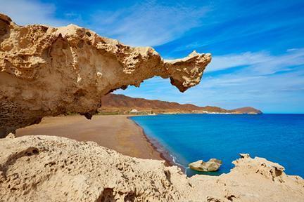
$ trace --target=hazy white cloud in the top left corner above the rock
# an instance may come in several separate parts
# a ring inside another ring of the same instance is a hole
[[[55,11],[56,7],[53,4],[42,4],[39,1],[0,0],[0,13],[10,16],[18,25],[67,25],[68,22],[54,18]]]

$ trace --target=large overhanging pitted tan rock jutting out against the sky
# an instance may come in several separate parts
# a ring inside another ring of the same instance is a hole
[[[163,60],[150,47],[130,47],[68,25],[18,26],[0,14],[0,136],[67,112],[88,119],[101,97],[153,76],[180,91],[201,81],[210,54]]]

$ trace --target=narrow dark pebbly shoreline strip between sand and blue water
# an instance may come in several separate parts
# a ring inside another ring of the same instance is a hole
[[[132,121],[137,127],[141,128],[142,135],[146,139],[146,141],[151,144],[153,149],[156,150],[156,152],[160,153],[160,157],[165,160],[165,165],[166,166],[177,166],[182,169],[183,173],[185,172],[186,168],[184,168],[182,165],[179,165],[178,163],[175,163],[175,160],[173,159],[172,155],[170,155],[170,152],[163,147],[160,142],[157,140],[153,139],[152,137],[149,137],[146,132],[144,131],[144,128],[142,128],[137,122],[131,119],[132,116],[127,116],[127,119]]]

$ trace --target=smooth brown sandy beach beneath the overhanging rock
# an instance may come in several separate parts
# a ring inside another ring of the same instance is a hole
[[[46,117],[36,125],[20,128],[16,136],[56,135],[78,141],[94,141],[121,154],[141,159],[165,160],[129,115]]]

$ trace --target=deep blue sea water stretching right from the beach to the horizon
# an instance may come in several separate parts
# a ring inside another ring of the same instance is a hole
[[[239,153],[264,157],[304,177],[304,114],[179,114],[133,116],[184,168],[197,160],[223,161],[211,175],[229,173]],[[196,172],[186,169],[191,176]]]

